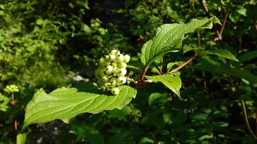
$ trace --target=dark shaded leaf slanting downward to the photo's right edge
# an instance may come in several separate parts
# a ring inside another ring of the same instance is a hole
[[[218,71],[226,73],[228,75],[236,76],[238,78],[245,79],[249,81],[251,84],[257,83],[257,76],[253,75],[248,70],[242,70],[240,68],[231,68],[229,64],[223,64],[218,67]]]

